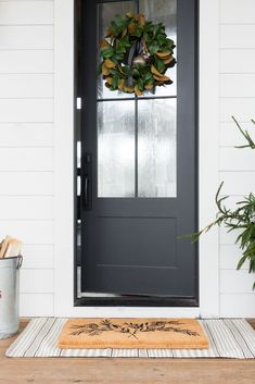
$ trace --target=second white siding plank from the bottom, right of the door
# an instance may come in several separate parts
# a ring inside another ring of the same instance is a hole
[[[219,290],[220,294],[251,294],[253,293],[254,281],[254,273],[244,270],[221,270],[219,273]]]

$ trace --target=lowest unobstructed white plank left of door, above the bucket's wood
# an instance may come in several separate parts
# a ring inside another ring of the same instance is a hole
[[[52,220],[53,198],[0,196],[1,220]]]

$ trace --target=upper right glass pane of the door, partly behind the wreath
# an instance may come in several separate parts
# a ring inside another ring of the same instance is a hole
[[[177,0],[140,0],[139,10],[146,20],[153,23],[163,23],[166,27],[167,37],[177,45]],[[177,59],[177,49],[174,55]],[[168,69],[166,75],[174,82],[165,87],[156,87],[156,96],[176,96],[177,92],[177,64]],[[148,94],[150,96],[151,94]],[[145,95],[144,95],[145,96]]]

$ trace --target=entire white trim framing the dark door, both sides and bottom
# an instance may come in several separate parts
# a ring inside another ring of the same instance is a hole
[[[215,216],[218,187],[218,4],[200,1],[200,227]],[[209,17],[208,17],[209,15]],[[218,232],[200,241],[200,307],[75,307],[74,293],[74,0],[54,1],[54,315],[218,315]],[[209,94],[207,91],[209,89]],[[208,177],[209,175],[209,177]]]

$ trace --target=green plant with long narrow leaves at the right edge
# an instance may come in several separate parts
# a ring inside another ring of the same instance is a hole
[[[243,131],[239,122],[233,116],[232,119],[246,140],[245,145],[235,148],[255,149],[255,143],[248,132]],[[251,121],[255,125],[255,121]],[[230,209],[226,207],[226,200],[229,196],[220,197],[222,186],[224,182],[220,184],[215,197],[218,208],[216,219],[201,231],[191,234],[191,240],[192,243],[196,241],[202,234],[208,232],[215,225],[224,225],[228,228],[228,232],[239,231],[235,244],[239,244],[242,249],[242,257],[238,262],[237,269],[239,270],[247,261],[248,272],[255,272],[255,195],[250,193],[247,196],[244,196],[243,200],[235,203],[234,209]],[[255,289],[255,282],[253,289]]]

